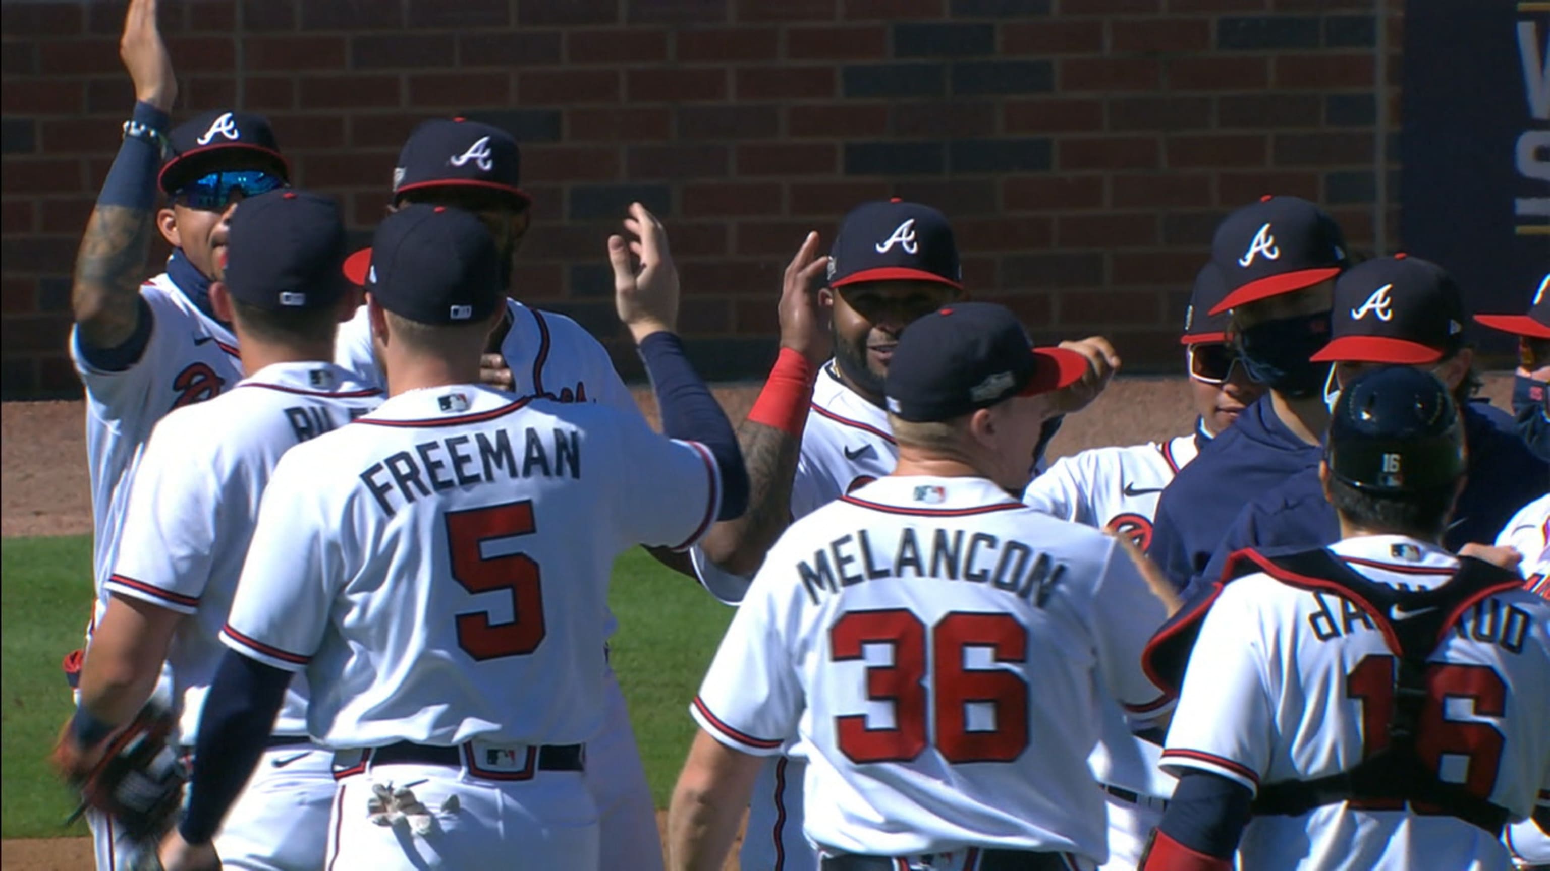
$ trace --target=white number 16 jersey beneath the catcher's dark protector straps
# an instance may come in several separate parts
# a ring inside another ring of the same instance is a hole
[[[1431,589],[1459,561],[1403,536],[1359,536],[1330,550],[1366,578]],[[1527,590],[1477,603],[1432,652],[1432,699],[1418,744],[1440,776],[1528,815],[1550,806],[1550,604]],[[1238,578],[1200,629],[1162,763],[1251,790],[1352,769],[1387,733],[1395,652],[1350,600]],[[1300,817],[1254,817],[1243,868],[1400,871],[1507,866],[1502,843],[1451,815],[1325,804]]]

